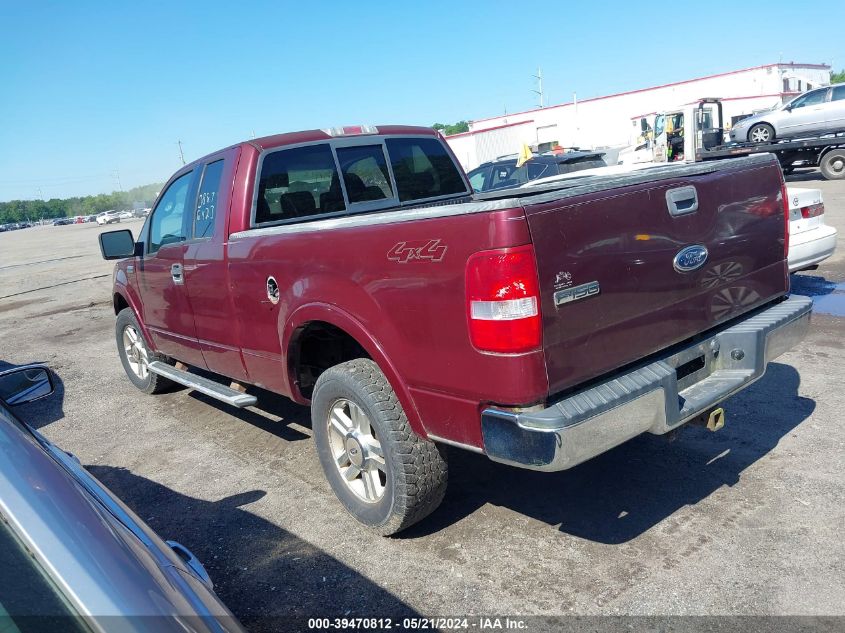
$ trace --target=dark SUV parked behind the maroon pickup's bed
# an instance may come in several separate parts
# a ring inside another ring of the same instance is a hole
[[[475,192],[518,187],[530,180],[569,174],[582,169],[605,167],[602,152],[566,152],[562,154],[539,154],[516,166],[515,156],[497,158],[482,163],[467,177]]]

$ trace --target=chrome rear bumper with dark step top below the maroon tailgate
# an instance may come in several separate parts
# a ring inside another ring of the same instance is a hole
[[[812,305],[801,296],[770,304],[542,411],[485,409],[484,452],[532,470],[566,470],[641,433],[668,433],[761,378],[804,338]]]

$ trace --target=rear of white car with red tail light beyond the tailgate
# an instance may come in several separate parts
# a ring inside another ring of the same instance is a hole
[[[836,249],[836,229],[824,223],[819,189],[788,187],[789,272],[815,266]]]

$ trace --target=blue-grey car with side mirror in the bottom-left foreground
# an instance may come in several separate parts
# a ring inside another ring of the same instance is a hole
[[[0,372],[0,574],[14,574],[0,582],[4,630],[242,631],[190,550],[12,413],[52,391],[43,365]]]

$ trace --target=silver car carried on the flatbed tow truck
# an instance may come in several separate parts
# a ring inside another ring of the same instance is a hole
[[[732,141],[770,143],[775,139],[845,131],[845,83],[817,88],[788,103],[742,119]]]

